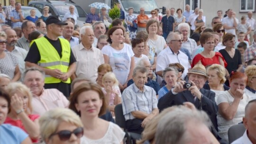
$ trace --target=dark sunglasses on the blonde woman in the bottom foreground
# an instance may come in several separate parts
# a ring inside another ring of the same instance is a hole
[[[73,132],[69,131],[69,130],[62,130],[59,131],[57,133],[54,133],[52,135],[50,135],[50,137],[54,136],[54,135],[59,135],[59,138],[61,141],[67,141],[70,139],[71,135],[74,134],[76,137],[80,138],[83,135],[83,128],[82,127],[78,127],[75,130],[73,130]]]

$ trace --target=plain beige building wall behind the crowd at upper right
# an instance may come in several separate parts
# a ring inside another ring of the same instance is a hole
[[[158,7],[162,8],[181,8],[184,9],[184,0],[155,0]],[[227,9],[233,9],[236,12],[236,18],[240,21],[241,16],[247,15],[247,12],[239,12],[240,0],[201,0],[200,8],[206,16],[206,27],[211,27],[211,19],[217,16],[217,11],[222,10],[223,16]],[[253,13],[253,18],[256,18],[256,13]]]

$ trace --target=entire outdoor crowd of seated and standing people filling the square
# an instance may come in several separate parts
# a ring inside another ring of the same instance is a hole
[[[252,12],[219,10],[206,27],[189,5],[149,18],[117,4],[120,18],[91,8],[79,27],[74,6],[62,21],[20,6],[0,13],[1,144],[123,144],[120,104],[137,144],[229,144],[238,123],[247,130],[232,144],[256,143]]]

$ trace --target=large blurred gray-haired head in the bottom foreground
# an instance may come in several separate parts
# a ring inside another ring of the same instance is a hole
[[[174,108],[157,125],[155,144],[216,144],[205,112],[184,106]]]

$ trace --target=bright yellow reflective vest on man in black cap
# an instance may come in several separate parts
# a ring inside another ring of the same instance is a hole
[[[37,44],[39,53],[40,53],[40,61],[37,64],[41,67],[47,69],[59,69],[61,72],[65,73],[68,71],[69,60],[71,56],[71,48],[69,42],[64,38],[59,38],[61,47],[62,47],[62,57],[58,54],[57,50],[54,46],[45,38],[40,37],[35,40]],[[46,75],[45,83],[59,83],[60,79],[56,79],[50,75]],[[63,81],[65,83],[70,83],[70,78],[67,81]]]

